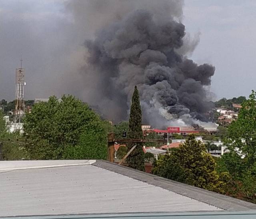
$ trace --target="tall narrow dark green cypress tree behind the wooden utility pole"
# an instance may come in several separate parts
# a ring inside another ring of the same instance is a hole
[[[128,137],[141,138],[142,137],[142,113],[140,108],[140,96],[137,86],[134,88],[134,93],[132,95],[132,106],[130,109],[130,119],[129,119],[129,131]],[[137,147],[130,153],[126,158],[129,167],[134,169],[145,171],[144,167],[144,152],[142,143],[136,143]],[[134,143],[128,144],[128,150],[134,146]]]

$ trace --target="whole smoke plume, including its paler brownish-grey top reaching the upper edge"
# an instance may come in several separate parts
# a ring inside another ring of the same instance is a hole
[[[137,85],[144,122],[192,124],[207,121],[212,107],[207,86],[215,68],[186,58],[199,42],[185,33],[182,1],[70,1],[80,22],[96,15],[92,40],[86,40],[82,67],[84,95],[108,119],[126,119]],[[88,14],[83,14],[86,8]],[[94,12],[96,14],[94,14]]]

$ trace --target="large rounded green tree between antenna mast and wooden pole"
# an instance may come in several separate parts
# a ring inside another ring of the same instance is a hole
[[[106,130],[100,117],[73,96],[34,104],[24,118],[30,159],[105,159]]]

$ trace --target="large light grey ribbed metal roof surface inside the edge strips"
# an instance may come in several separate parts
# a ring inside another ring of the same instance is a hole
[[[221,210],[92,165],[2,172],[0,199],[0,216]]]

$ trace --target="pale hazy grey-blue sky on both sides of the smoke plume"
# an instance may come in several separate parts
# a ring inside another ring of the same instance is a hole
[[[216,98],[248,96],[255,89],[255,11],[254,0],[185,0],[186,32],[191,38],[200,33],[190,58],[216,67],[211,86]],[[20,54],[26,99],[63,93],[83,99],[82,44],[98,24],[80,20],[84,28],[78,29],[74,20],[61,0],[0,0],[0,99],[14,99]]]

